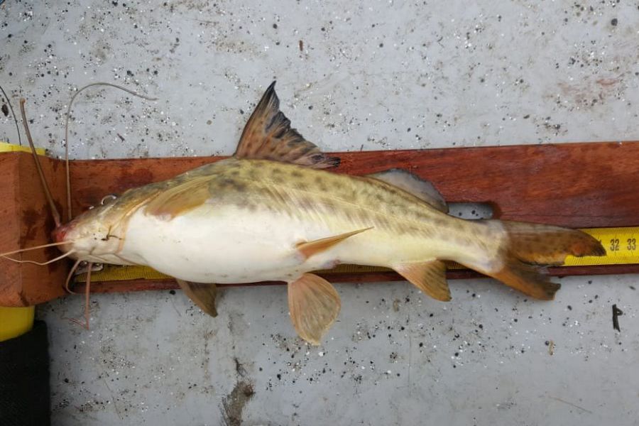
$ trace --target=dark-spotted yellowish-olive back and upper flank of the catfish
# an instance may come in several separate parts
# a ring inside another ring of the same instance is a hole
[[[232,204],[251,212],[267,209],[291,219],[343,220],[353,229],[373,226],[398,235],[480,244],[474,239],[476,226],[440,212],[415,195],[366,177],[229,158],[191,170],[165,185],[177,187],[193,178],[204,178],[202,185],[207,185],[209,197],[201,202],[213,206]]]

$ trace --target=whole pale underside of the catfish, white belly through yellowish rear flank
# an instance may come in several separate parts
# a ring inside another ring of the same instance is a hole
[[[210,204],[170,220],[138,211],[130,219],[118,256],[182,280],[225,284],[291,281],[337,263],[392,268],[458,251],[445,241],[390,235],[373,228],[305,259],[297,244],[356,231],[352,224],[328,222]]]

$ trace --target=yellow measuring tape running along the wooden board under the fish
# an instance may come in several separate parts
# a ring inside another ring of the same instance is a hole
[[[564,266],[594,266],[594,265],[628,265],[639,264],[639,226],[623,228],[587,228],[581,229],[601,241],[606,249],[606,256],[568,256]],[[464,269],[464,266],[454,262],[447,262],[449,269]],[[378,266],[339,265],[326,271],[327,274],[340,273],[370,273],[388,272],[391,269]],[[146,266],[114,266],[105,265],[102,271],[91,273],[93,281],[126,281],[126,280],[160,280],[170,279],[165,275]],[[86,274],[78,275],[76,280],[80,283],[86,281]]]

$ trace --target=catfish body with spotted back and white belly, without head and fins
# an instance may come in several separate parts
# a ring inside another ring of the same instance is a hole
[[[497,223],[451,217],[373,178],[235,158],[195,173],[207,175],[202,204],[175,217],[136,207],[121,258],[197,283],[288,281],[338,263],[444,258],[486,269],[505,235]],[[297,250],[358,229],[368,230],[315,256]]]

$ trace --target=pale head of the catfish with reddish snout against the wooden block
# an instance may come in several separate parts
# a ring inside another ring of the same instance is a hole
[[[106,197],[105,197],[106,198]],[[113,199],[87,210],[53,230],[53,239],[70,258],[94,263],[122,263],[117,253],[124,244],[129,203]]]

